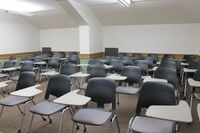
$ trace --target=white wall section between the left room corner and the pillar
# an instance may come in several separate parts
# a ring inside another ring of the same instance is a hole
[[[79,29],[47,29],[40,31],[41,47],[52,47],[53,51],[79,51]]]

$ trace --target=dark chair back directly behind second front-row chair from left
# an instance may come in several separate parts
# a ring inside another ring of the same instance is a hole
[[[74,74],[78,71],[77,67],[75,64],[71,64],[71,63],[67,63],[67,64],[63,64],[60,67],[60,74],[64,74],[64,75],[71,75]]]

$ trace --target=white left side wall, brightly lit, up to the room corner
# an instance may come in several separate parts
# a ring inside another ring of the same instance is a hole
[[[39,30],[23,17],[0,13],[0,54],[40,50]]]

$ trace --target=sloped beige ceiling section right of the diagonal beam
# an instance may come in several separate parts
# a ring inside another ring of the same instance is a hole
[[[199,23],[200,0],[147,0],[124,8],[118,4],[92,6],[103,25]]]

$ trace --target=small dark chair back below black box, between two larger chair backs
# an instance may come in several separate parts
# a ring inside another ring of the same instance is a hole
[[[112,59],[110,61],[110,65],[112,66],[112,68],[110,69],[110,72],[114,72],[114,73],[121,73],[121,70],[124,66],[123,62],[118,59]]]

